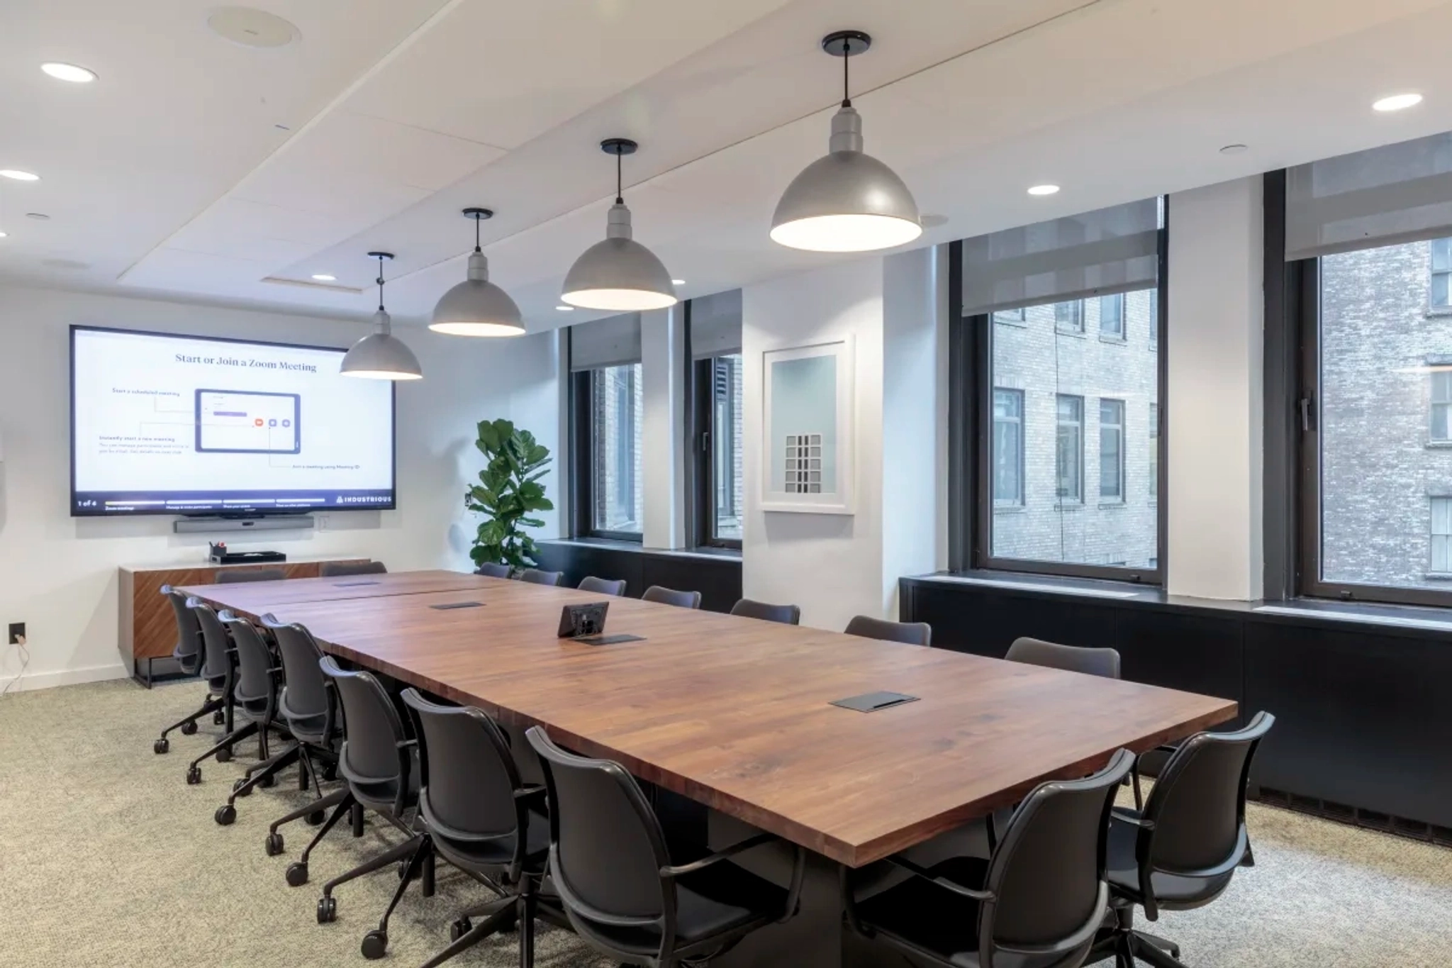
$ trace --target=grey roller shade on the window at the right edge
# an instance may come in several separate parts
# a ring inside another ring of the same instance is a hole
[[[1356,151],[1285,173],[1285,257],[1452,235],[1452,135]]]

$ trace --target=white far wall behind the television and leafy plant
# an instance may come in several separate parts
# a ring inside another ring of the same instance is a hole
[[[209,536],[170,517],[71,518],[71,324],[347,347],[366,324],[0,286],[0,627],[26,623],[30,665],[16,688],[123,675],[116,646],[118,565],[199,563]],[[475,424],[507,417],[559,451],[558,340],[485,341],[395,329],[424,379],[398,387],[398,509],[324,515],[318,531],[273,531],[238,549],[289,557],[364,554],[391,569],[469,567],[475,521],[466,480],[482,466]],[[559,493],[556,476],[544,479]],[[559,533],[546,515],[547,536]],[[218,537],[218,536],[211,536]],[[0,641],[0,684],[19,653]]]

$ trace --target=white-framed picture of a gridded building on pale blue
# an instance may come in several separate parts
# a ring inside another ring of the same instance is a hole
[[[851,515],[857,482],[851,334],[761,356],[761,509]]]

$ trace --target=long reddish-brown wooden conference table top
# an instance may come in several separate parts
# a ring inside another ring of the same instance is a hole
[[[261,583],[189,591],[302,623],[328,652],[543,724],[849,866],[1092,772],[1121,746],[1143,752],[1236,714],[1228,700],[629,598],[610,599],[607,633],[645,640],[585,646],[556,637],[560,607],[600,595],[478,581],[346,602],[264,601]],[[431,608],[462,601],[482,607]],[[919,701],[829,705],[878,689]]]

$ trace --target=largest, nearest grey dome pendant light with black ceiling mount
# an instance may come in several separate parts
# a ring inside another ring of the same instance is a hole
[[[861,30],[822,38],[842,58],[842,107],[832,118],[829,154],[802,170],[777,202],[771,238],[815,253],[867,253],[922,235],[918,203],[892,168],[862,154],[862,116],[848,96],[848,60],[873,45]]]

